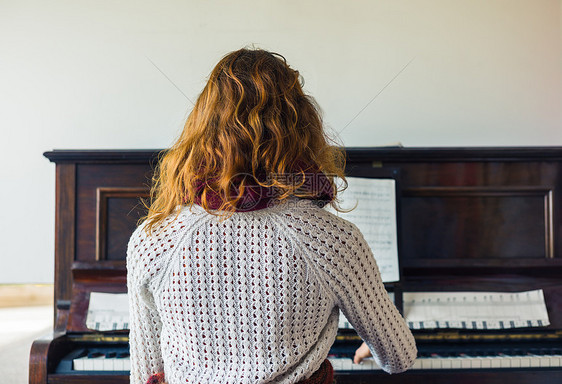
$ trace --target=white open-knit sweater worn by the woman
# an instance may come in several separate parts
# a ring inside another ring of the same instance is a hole
[[[357,227],[308,200],[143,228],[127,255],[133,384],[298,382],[328,355],[338,308],[385,371],[416,357]]]

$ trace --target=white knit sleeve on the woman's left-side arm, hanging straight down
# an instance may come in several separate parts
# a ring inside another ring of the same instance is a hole
[[[164,371],[162,323],[149,288],[150,278],[159,270],[153,252],[144,231],[137,229],[127,250],[131,384],[144,384],[152,374]]]

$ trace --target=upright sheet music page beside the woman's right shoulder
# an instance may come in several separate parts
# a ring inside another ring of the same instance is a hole
[[[348,177],[341,207],[347,213],[333,213],[355,224],[371,247],[384,282],[400,280],[396,225],[396,185],[393,179]]]

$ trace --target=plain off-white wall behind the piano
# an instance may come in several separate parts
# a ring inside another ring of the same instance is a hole
[[[196,99],[248,44],[301,71],[348,146],[562,146],[561,5],[3,0],[0,283],[53,279],[44,151],[170,145],[191,107],[176,86]]]

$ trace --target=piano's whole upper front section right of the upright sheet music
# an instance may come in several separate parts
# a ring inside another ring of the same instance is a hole
[[[401,173],[406,275],[424,266],[562,267],[562,166],[544,159],[555,153],[382,152],[375,162]]]

